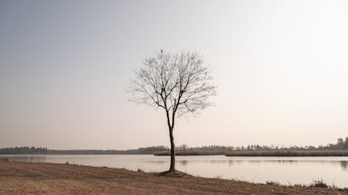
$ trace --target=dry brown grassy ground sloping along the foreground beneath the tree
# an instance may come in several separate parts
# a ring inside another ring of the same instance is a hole
[[[348,182],[348,181],[347,181]],[[74,164],[0,162],[0,194],[348,194],[338,189],[158,176]]]

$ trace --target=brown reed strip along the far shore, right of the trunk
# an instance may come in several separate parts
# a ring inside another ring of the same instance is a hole
[[[161,151],[154,155],[171,155],[169,151]],[[176,151],[175,155],[226,155],[226,156],[348,156],[348,150],[311,150],[311,151]]]

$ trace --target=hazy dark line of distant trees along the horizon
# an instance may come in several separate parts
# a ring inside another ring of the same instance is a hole
[[[200,146],[189,147],[186,144],[176,147],[177,151],[274,151],[274,150],[348,150],[348,137],[338,138],[336,144],[327,144],[326,146],[278,146],[278,145],[248,145],[248,146]],[[51,150],[47,148],[35,147],[15,147],[0,149],[1,155],[12,154],[154,154],[161,151],[169,151],[167,146],[150,146],[131,150]]]

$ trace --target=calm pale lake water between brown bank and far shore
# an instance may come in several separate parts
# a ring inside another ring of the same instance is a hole
[[[25,162],[56,162],[97,167],[165,171],[170,157],[154,155],[0,155]],[[348,157],[226,157],[177,156],[176,166],[195,176],[234,178],[253,183],[267,180],[283,184],[309,184],[322,178],[326,183],[348,187]]]

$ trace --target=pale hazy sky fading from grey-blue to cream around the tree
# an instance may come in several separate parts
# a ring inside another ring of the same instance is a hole
[[[218,96],[175,144],[348,137],[348,1],[0,0],[0,147],[169,146],[164,111],[127,101],[145,56],[198,50]]]

